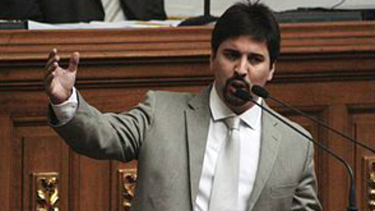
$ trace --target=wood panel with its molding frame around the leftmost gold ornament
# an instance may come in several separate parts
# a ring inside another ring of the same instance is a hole
[[[11,159],[22,209],[36,210],[34,174],[58,173],[58,206],[69,210],[69,147],[46,125],[46,118],[12,118],[15,134]],[[22,198],[21,198],[22,197]]]

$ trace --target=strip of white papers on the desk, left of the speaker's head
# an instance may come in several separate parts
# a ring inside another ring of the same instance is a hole
[[[28,21],[30,30],[46,29],[121,29],[121,28],[153,28],[153,27],[175,27],[181,21],[119,21],[102,22],[92,21],[90,23],[72,23],[72,24],[46,24],[36,21]]]

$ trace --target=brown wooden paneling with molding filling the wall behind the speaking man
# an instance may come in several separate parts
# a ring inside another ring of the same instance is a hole
[[[282,53],[270,93],[375,147],[375,22],[283,24]],[[104,112],[120,112],[149,89],[198,92],[208,70],[211,27],[0,32],[0,203],[29,210],[30,174],[60,174],[60,210],[119,210],[117,171],[135,163],[77,155],[48,127],[43,67],[58,48],[63,63],[80,51],[77,87]],[[357,204],[365,206],[361,164],[369,152],[269,101],[352,165]],[[315,161],[324,209],[344,210],[344,167],[321,149]]]

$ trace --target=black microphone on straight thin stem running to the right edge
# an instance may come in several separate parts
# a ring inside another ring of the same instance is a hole
[[[332,131],[332,132],[338,134],[339,136],[344,137],[345,139],[347,139],[347,140],[349,140],[349,141],[355,143],[356,145],[362,146],[362,148],[367,149],[368,151],[370,151],[370,152],[372,152],[372,153],[375,154],[375,149],[372,149],[371,147],[369,147],[369,146],[363,144],[362,142],[359,142],[359,141],[353,139],[352,137],[347,136],[347,135],[345,135],[344,133],[339,132],[338,130],[335,130],[334,128],[330,127],[329,125],[325,124],[324,122],[319,121],[319,120],[313,118],[312,116],[307,115],[306,113],[302,112],[301,110],[298,110],[298,109],[294,108],[293,106],[288,105],[288,104],[282,102],[281,100],[278,100],[278,99],[276,99],[276,98],[273,98],[273,97],[269,94],[269,92],[267,92],[267,90],[264,89],[263,87],[258,86],[258,85],[254,85],[254,86],[251,87],[251,92],[254,93],[255,95],[258,95],[258,96],[262,97],[263,99],[267,99],[267,98],[269,98],[269,99],[271,99],[272,101],[277,102],[278,104],[281,104],[281,105],[283,105],[283,106],[285,106],[285,107],[288,107],[289,109],[293,110],[294,112],[298,113],[299,115],[302,115],[302,116],[304,116],[304,117],[306,117],[306,118],[311,119],[312,121],[318,123],[319,125],[323,126],[324,128],[326,128],[326,129],[328,129],[328,130],[330,130],[330,131]]]

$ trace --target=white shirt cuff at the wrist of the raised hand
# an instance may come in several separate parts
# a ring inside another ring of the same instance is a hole
[[[77,112],[77,89],[73,87],[72,95],[65,102],[61,104],[53,104],[52,102],[50,102],[50,104],[52,106],[52,110],[55,112],[58,124],[66,124],[74,117],[75,113]]]

